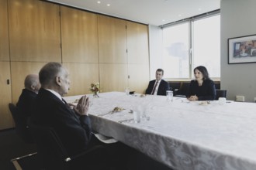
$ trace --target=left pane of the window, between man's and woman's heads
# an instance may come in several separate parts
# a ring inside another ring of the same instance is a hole
[[[163,69],[165,78],[189,78],[189,23],[163,31]]]

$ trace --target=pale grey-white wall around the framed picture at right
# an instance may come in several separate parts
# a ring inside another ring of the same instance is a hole
[[[228,64],[227,39],[256,34],[256,0],[221,0],[221,89],[227,99],[236,95],[254,102],[256,97],[256,63]]]

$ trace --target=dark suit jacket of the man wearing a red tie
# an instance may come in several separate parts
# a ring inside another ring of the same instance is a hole
[[[152,93],[152,90],[154,88],[154,83],[156,82],[156,80],[151,80],[149,83],[148,83],[148,87],[147,87],[147,90],[146,90],[146,93],[147,94],[151,94]],[[166,90],[169,90],[170,87],[169,87],[169,83],[165,80],[161,80],[160,84],[159,84],[159,87],[158,87],[158,90],[157,90],[157,95],[162,95],[162,96],[165,96],[166,95]]]

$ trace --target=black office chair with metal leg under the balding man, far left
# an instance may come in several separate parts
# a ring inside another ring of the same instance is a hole
[[[19,113],[18,107],[16,107],[16,105],[12,103],[9,104],[9,110],[11,111],[12,118],[16,124],[16,133],[19,135],[20,138],[22,138],[22,141],[25,141],[28,144],[33,144],[33,139],[31,137],[31,134],[29,134],[29,129],[26,125],[26,118]],[[28,155],[23,155],[18,158],[12,158],[11,162],[16,167],[16,169],[20,169],[21,165],[19,165],[18,160],[22,158],[28,158],[33,155],[36,155],[36,152]]]

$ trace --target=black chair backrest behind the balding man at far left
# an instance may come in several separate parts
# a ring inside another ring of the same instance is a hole
[[[16,107],[15,104],[10,103],[9,110],[16,124],[16,133],[19,134],[19,137],[22,138],[23,141],[26,141],[26,143],[33,143],[33,139],[27,127],[26,117],[19,112],[19,108]]]

